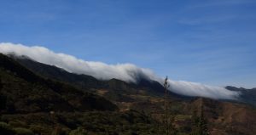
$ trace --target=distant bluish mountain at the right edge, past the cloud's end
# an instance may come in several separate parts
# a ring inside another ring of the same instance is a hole
[[[240,92],[241,95],[239,99],[241,102],[256,106],[256,88],[246,89],[243,87],[238,88],[238,87],[231,87],[231,86],[227,86],[225,88],[229,89],[230,91]]]

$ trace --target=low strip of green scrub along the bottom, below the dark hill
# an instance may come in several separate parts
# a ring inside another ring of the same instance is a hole
[[[123,113],[118,111],[56,113],[52,117],[45,113],[3,115],[1,121],[9,121],[9,123],[25,121],[25,127],[29,127],[30,131],[43,134],[155,134],[162,132],[158,121],[135,110]],[[29,133],[28,130],[16,126],[10,129],[19,129],[16,131]]]

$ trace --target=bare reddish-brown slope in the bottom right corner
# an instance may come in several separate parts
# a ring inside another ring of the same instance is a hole
[[[190,107],[200,110],[207,118],[211,135],[254,135],[256,133],[256,110],[246,104],[221,102],[208,98],[195,99]]]

